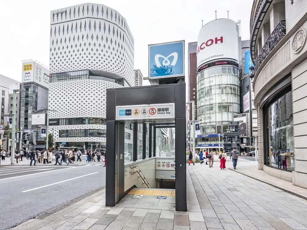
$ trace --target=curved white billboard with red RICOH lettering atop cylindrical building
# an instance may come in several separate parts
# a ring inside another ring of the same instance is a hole
[[[217,59],[239,59],[239,34],[235,21],[222,18],[204,25],[197,37],[197,68]]]

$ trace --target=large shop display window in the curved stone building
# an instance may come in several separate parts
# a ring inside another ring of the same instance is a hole
[[[290,87],[290,88],[289,88]],[[288,93],[266,104],[265,163],[294,171],[293,109],[291,86]]]

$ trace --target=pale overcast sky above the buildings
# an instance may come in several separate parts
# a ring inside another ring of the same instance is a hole
[[[242,40],[250,38],[252,0],[104,0],[91,1],[117,10],[134,37],[134,68],[148,76],[148,44],[197,41],[204,24],[217,18],[241,20]],[[1,3],[0,74],[21,81],[21,61],[37,60],[49,67],[50,11],[85,3],[80,0],[3,0]]]

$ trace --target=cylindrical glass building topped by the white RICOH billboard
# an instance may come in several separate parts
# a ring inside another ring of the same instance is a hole
[[[207,23],[200,29],[197,44],[197,120],[201,120],[201,133],[227,132],[233,115],[240,112],[239,33],[235,21]]]

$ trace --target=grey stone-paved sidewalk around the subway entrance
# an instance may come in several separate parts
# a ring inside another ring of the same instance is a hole
[[[105,207],[105,190],[54,209],[15,230],[200,230],[307,229],[307,201],[218,165],[187,167],[188,212],[176,212],[174,197],[126,197]]]

